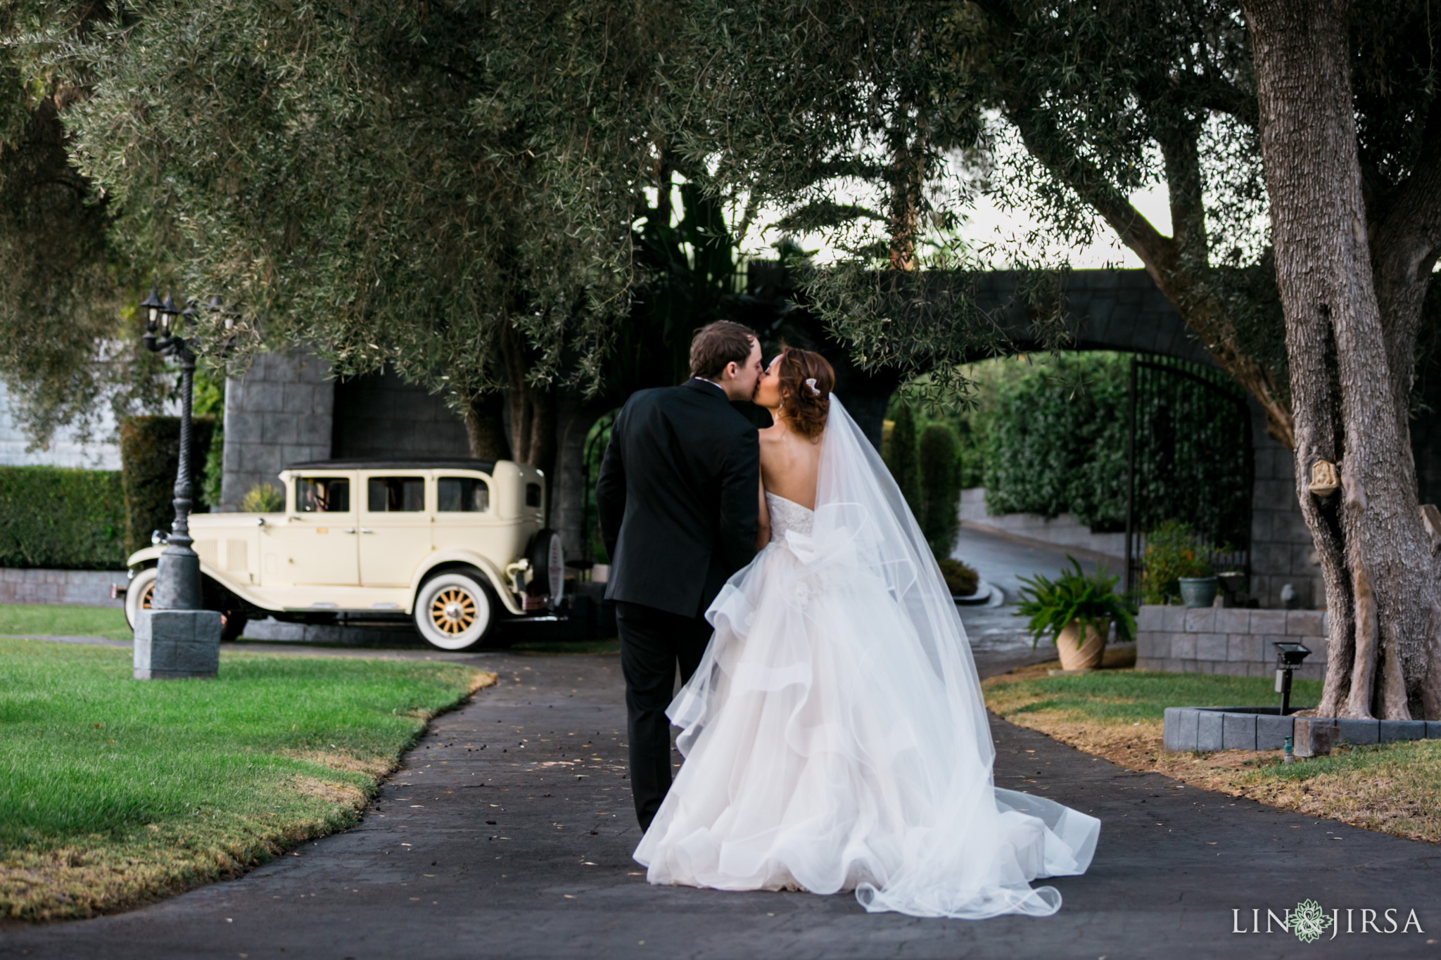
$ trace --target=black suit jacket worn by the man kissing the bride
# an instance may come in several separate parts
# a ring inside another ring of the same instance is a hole
[[[595,485],[605,597],[705,613],[755,557],[761,442],[720,387],[641,390],[611,427]]]

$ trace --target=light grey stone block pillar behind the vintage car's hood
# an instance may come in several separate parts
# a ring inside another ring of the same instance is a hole
[[[225,381],[220,511],[287,463],[330,456],[336,387],[330,364],[307,353],[264,354]]]

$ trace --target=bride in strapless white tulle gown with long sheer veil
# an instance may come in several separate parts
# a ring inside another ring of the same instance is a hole
[[[1030,881],[1085,872],[1101,823],[991,783],[955,604],[833,383],[787,348],[759,384],[768,543],[706,613],[710,646],[667,711],[686,763],[635,859],[651,884],[1053,914],[1059,891]]]

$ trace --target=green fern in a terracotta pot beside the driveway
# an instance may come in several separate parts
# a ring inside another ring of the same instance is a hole
[[[1136,636],[1136,607],[1115,592],[1120,577],[1107,576],[1105,567],[1087,574],[1075,557],[1066,556],[1071,569],[1056,580],[1040,574],[1022,577],[1020,606],[1016,616],[1030,617],[1032,646],[1049,636],[1061,655],[1061,668],[1095,669],[1101,665],[1105,640],[1115,625],[1115,639]]]

